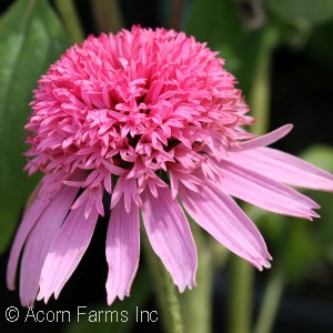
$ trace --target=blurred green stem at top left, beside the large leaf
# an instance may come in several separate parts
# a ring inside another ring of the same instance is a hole
[[[56,0],[56,7],[72,42],[81,42],[84,33],[73,4],[73,0]]]

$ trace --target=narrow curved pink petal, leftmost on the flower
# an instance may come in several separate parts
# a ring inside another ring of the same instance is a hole
[[[46,191],[47,185],[41,185],[39,189],[39,193]],[[17,274],[17,268],[18,268],[18,261],[22,251],[22,248],[24,245],[24,242],[38,221],[39,216],[42,214],[44,209],[50,203],[50,198],[46,196],[39,196],[37,195],[36,199],[31,202],[27,211],[24,212],[22,222],[20,223],[20,226],[18,229],[18,232],[16,234],[16,239],[13,241],[11,252],[9,255],[9,262],[7,268],[7,285],[8,289],[14,290],[16,289],[16,274]]]

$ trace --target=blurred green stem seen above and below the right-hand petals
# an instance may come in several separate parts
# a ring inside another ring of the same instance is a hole
[[[250,107],[252,115],[256,119],[252,132],[258,135],[265,133],[268,130],[271,99],[271,54],[278,38],[275,29],[266,27],[262,31],[258,46],[256,70],[250,92]],[[249,263],[234,258],[232,260],[231,278],[229,332],[248,333],[251,331],[252,325],[254,270]]]

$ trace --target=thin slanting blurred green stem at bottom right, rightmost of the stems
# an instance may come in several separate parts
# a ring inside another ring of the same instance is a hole
[[[281,271],[275,271],[268,283],[254,333],[272,332],[284,284],[284,275]]]

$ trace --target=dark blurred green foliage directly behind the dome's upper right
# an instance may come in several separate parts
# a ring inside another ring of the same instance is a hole
[[[226,59],[225,68],[235,74],[248,95],[258,67],[276,43],[278,36],[273,27],[249,31],[245,24],[235,1],[196,0],[185,30]]]

